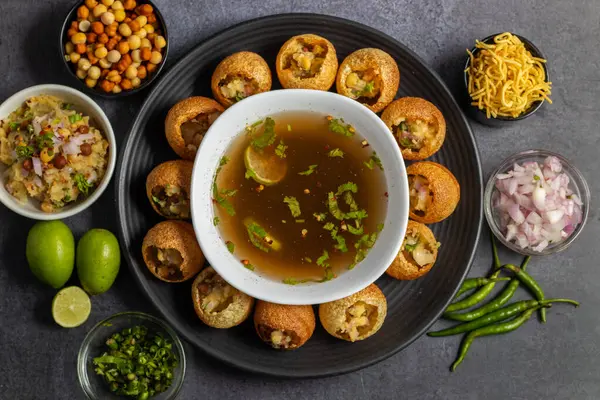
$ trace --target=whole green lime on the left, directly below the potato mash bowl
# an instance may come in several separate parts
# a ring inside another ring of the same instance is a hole
[[[27,235],[25,256],[36,278],[59,289],[67,283],[73,273],[73,233],[61,221],[38,222]]]

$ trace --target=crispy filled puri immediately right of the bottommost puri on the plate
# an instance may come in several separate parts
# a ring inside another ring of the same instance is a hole
[[[386,315],[387,301],[374,283],[353,295],[319,306],[323,328],[331,336],[349,342],[364,340],[376,333]]]

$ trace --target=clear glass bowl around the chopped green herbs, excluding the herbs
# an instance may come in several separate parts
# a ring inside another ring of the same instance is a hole
[[[143,325],[148,328],[148,334],[160,333],[165,339],[173,343],[173,351],[177,356],[179,363],[173,371],[173,382],[169,388],[152,396],[152,400],[175,399],[183,386],[185,377],[185,353],[181,340],[177,334],[165,322],[153,317],[152,315],[141,312],[123,312],[115,314],[112,317],[99,322],[90,330],[79,348],[77,356],[77,375],[83,392],[91,400],[120,399],[124,396],[117,396],[112,393],[104,378],[97,375],[94,371],[95,366],[92,362],[94,357],[99,357],[106,351],[105,341],[114,333],[120,332],[126,328],[132,328],[136,325]]]

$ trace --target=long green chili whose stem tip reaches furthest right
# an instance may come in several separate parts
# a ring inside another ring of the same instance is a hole
[[[456,325],[447,329],[442,329],[440,331],[428,332],[427,336],[431,337],[440,337],[440,336],[451,336],[458,335],[459,333],[470,332],[472,330],[490,325],[495,322],[504,321],[511,317],[514,317],[517,314],[520,314],[532,307],[536,306],[550,306],[552,303],[569,303],[573,304],[575,307],[579,306],[579,303],[575,300],[570,299],[546,299],[546,300],[523,300],[512,303],[506,307],[503,307],[499,310],[491,312],[489,314],[484,315],[483,317],[477,318],[471,322],[467,322],[465,324]]]

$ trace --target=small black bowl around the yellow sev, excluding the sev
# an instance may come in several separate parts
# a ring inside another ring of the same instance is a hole
[[[486,43],[486,44],[493,44],[494,38],[498,35],[501,35],[501,33],[495,33],[493,35],[490,35],[490,36],[486,37],[485,39],[481,40],[481,42]],[[523,42],[523,44],[525,44],[525,48],[527,50],[529,50],[529,52],[531,53],[531,55],[533,57],[539,57],[539,58],[543,58],[546,60],[546,57],[544,56],[544,54],[541,52],[541,50],[539,48],[537,48],[533,44],[533,42],[531,42],[529,39],[527,39],[521,35],[517,35],[515,33],[513,33],[513,35],[518,37],[521,40],[521,42]],[[477,53],[479,53],[479,51],[481,51],[481,49],[478,49],[476,46],[473,46],[473,48],[471,49],[471,53],[473,54],[473,56],[477,55]],[[542,67],[544,68],[544,72],[546,74],[546,82],[549,82],[550,76],[548,75],[548,65],[547,64],[548,64],[547,62],[543,63]],[[497,128],[500,128],[500,127],[503,127],[506,125],[510,125],[513,122],[522,121],[525,118],[532,116],[537,110],[540,109],[540,107],[544,103],[543,100],[533,103],[527,111],[525,111],[523,114],[519,115],[516,118],[501,117],[501,116],[488,118],[485,111],[482,111],[478,107],[471,104],[472,100],[471,100],[471,96],[469,95],[469,76],[467,74],[467,69],[469,68],[470,65],[471,65],[471,57],[467,56],[467,60],[465,61],[465,67],[463,69],[463,83],[464,83],[464,93],[465,93],[464,98],[465,98],[465,102],[466,102],[466,111],[467,111],[467,114],[471,118],[473,118],[475,121],[479,122],[480,124],[497,127]]]

